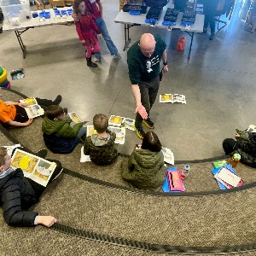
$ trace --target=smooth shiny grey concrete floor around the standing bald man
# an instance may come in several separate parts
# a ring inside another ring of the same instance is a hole
[[[186,34],[185,51],[178,53],[177,38],[183,32],[144,26],[131,28],[131,44],[143,32],[160,33],[166,39],[169,73],[164,76],[159,93],[186,96],[186,105],[157,101],[150,113],[156,125],[154,131],[163,146],[172,149],[175,160],[222,155],[222,141],[233,137],[235,128],[256,125],[256,34],[242,29],[241,1],[236,2],[229,25],[213,41],[208,40],[209,35],[195,33],[189,61],[189,35]],[[101,40],[102,64],[98,68],[86,67],[84,48],[73,25],[46,26],[22,34],[26,59],[22,57],[15,32],[3,32],[0,65],[8,72],[18,67],[26,72],[24,79],[11,81],[11,88],[26,96],[53,99],[61,94],[62,107],[76,111],[81,119],[90,122],[96,113],[134,118],[126,51],[122,50],[124,26],[113,22],[119,12],[119,1],[102,0],[102,5],[104,20],[122,59],[113,60]],[[119,151],[131,154],[136,143],[141,142],[135,132],[127,131],[125,145]]]

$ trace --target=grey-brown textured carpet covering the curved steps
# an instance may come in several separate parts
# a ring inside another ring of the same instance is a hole
[[[6,90],[1,90],[1,95],[11,101],[20,99],[20,96]],[[26,128],[9,129],[7,135],[37,151],[45,148],[41,123],[42,119],[37,118]],[[0,139],[2,145],[12,144],[3,132]],[[63,173],[49,184],[41,201],[34,207],[36,211],[54,215],[60,224],[77,230],[160,246],[232,247],[255,243],[253,168],[242,164],[236,168],[247,187],[219,193],[211,173],[212,161],[189,163],[191,171],[184,181],[186,192],[154,195],[129,189],[122,180],[120,164],[127,157],[119,156],[116,163],[105,167],[80,163],[81,146],[72,154],[48,154],[48,158],[61,160],[65,168],[85,177],[82,179]],[[182,164],[175,166],[183,167]],[[4,223],[2,212],[1,209],[1,255],[157,254],[68,236],[39,226],[35,229],[12,228]],[[256,252],[243,255],[256,255]]]

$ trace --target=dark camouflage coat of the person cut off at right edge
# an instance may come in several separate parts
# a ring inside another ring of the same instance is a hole
[[[256,133],[248,133],[248,138],[237,138],[236,150],[232,154],[241,154],[241,162],[256,167]]]

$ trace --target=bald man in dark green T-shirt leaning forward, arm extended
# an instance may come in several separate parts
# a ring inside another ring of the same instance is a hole
[[[137,137],[141,139],[145,135],[143,124],[154,128],[149,111],[159,90],[160,60],[164,64],[164,73],[168,72],[166,43],[160,35],[143,34],[127,53],[131,90],[136,101],[135,128]]]

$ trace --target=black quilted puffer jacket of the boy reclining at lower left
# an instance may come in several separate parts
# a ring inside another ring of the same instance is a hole
[[[0,203],[3,217],[11,226],[34,226],[38,212],[27,211],[38,201],[32,185],[21,169],[0,179]]]

